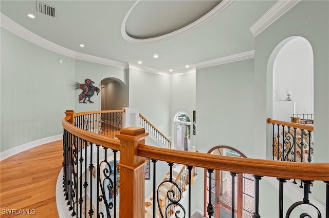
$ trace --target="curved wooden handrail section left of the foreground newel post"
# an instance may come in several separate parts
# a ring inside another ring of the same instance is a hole
[[[111,148],[114,150],[120,150],[120,140],[113,139],[106,136],[102,136],[96,133],[89,132],[88,130],[84,130],[78,128],[69,122],[67,122],[69,117],[62,119],[63,127],[71,134],[78,136],[81,139],[84,139],[88,142],[92,142],[98,145],[102,145],[103,147]]]

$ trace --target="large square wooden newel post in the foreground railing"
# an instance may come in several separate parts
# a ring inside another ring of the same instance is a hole
[[[137,156],[139,144],[145,144],[144,128],[127,127],[117,135],[120,140],[120,217],[144,217],[145,159]]]

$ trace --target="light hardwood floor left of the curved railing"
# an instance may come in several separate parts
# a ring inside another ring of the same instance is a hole
[[[62,160],[63,143],[58,140],[1,161],[0,216],[59,217],[55,189]],[[30,215],[4,214],[5,209],[29,210]]]

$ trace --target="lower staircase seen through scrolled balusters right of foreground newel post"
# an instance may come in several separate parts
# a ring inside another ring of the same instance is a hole
[[[196,179],[196,170],[191,170],[191,185],[193,185],[194,179]],[[165,175],[163,175],[162,179],[159,181],[159,183],[156,186],[156,197],[158,196],[158,201],[161,206],[161,211],[163,216],[166,217],[165,211],[167,209],[168,217],[175,217],[176,211],[181,211],[182,209],[177,205],[170,205],[171,202],[169,201],[167,197],[167,193],[173,200],[179,200],[179,203],[184,201],[184,198],[186,197],[189,189],[189,181],[188,181],[188,169],[186,165],[181,164],[174,164],[172,167],[172,181],[175,183],[171,183],[170,181],[170,168],[168,168]],[[180,191],[181,190],[181,195]],[[173,191],[173,193],[169,191]],[[156,206],[156,217],[161,217],[159,213],[159,207],[157,204],[157,199],[155,200],[155,206]],[[187,209],[186,209],[187,210]],[[153,217],[153,193],[145,199],[145,218]],[[181,211],[182,213],[182,211]]]

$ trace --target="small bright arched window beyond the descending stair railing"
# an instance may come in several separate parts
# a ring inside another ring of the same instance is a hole
[[[190,116],[183,111],[174,116],[174,147],[177,150],[192,150],[192,122]]]

